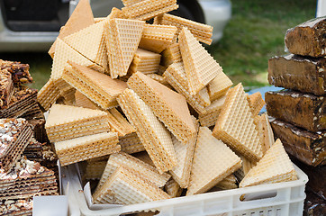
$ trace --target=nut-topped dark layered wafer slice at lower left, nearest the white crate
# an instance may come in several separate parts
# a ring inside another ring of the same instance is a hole
[[[0,172],[0,199],[28,199],[58,195],[54,172],[28,159],[20,159],[9,173]]]

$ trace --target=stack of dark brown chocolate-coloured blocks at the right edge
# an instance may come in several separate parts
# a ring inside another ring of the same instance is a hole
[[[325,202],[326,197],[325,176],[315,175],[326,170],[325,35],[325,17],[299,24],[285,34],[285,46],[291,54],[268,62],[269,83],[285,88],[265,95],[267,113],[275,118],[271,121],[275,137],[282,140],[298,166],[312,170],[307,173],[313,179],[307,184],[307,190],[313,192],[305,203],[307,208],[313,200]],[[310,198],[313,194],[320,197]],[[312,215],[326,213],[322,208],[311,211]]]

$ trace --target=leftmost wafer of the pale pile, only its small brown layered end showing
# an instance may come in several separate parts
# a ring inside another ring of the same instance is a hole
[[[54,84],[53,80],[50,78],[48,82],[43,85],[41,90],[37,94],[37,100],[41,107],[48,111],[53,103],[55,103],[59,98],[59,89]]]

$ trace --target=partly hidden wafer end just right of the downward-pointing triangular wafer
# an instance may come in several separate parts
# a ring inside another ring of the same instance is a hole
[[[128,73],[136,73],[137,71],[143,74],[156,73],[160,62],[160,55],[145,49],[137,49],[135,56],[128,69]]]

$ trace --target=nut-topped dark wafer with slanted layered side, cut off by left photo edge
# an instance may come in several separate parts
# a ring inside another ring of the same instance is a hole
[[[0,119],[0,171],[11,170],[32,140],[32,129],[24,119]]]

